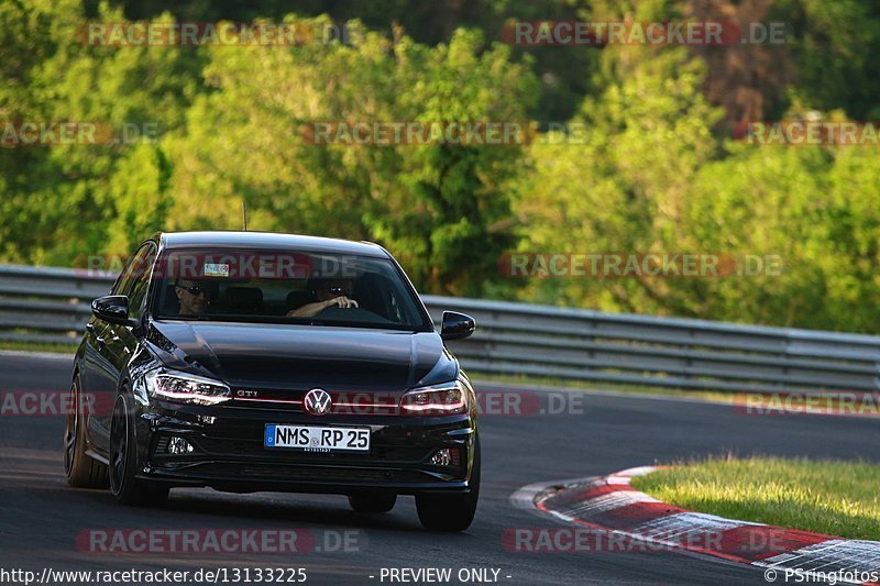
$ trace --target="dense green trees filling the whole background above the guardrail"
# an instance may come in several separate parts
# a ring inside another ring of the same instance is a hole
[[[701,7],[750,10],[727,0]],[[754,80],[738,86],[737,75],[707,66],[727,63],[712,60],[724,47],[499,42],[517,19],[676,20],[694,4],[380,0],[324,10],[310,0],[293,9],[277,0],[1,3],[4,125],[97,121],[144,133],[136,125],[146,123],[160,133],[0,148],[0,262],[82,264],[128,254],[155,230],[238,229],[243,200],[252,229],[385,245],[425,292],[880,332],[876,147],[729,140],[739,90],[748,97],[741,111],[763,97]],[[880,118],[876,3],[776,0],[766,15],[791,23],[792,43],[778,75],[762,65],[772,46],[743,67],[772,81],[772,103],[755,115]],[[82,42],[87,20],[125,18],[344,22],[351,42]],[[730,62],[750,58],[740,49]],[[564,119],[583,132],[553,131],[530,145],[309,140],[316,122]],[[784,267],[751,278],[516,280],[496,266],[515,251],[772,254]]]

